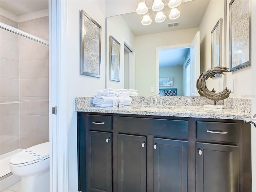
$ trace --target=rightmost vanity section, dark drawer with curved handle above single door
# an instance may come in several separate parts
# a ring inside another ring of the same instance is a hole
[[[201,121],[196,125],[197,139],[205,140],[196,143],[196,191],[238,192],[239,125]],[[218,141],[226,143],[208,143]]]

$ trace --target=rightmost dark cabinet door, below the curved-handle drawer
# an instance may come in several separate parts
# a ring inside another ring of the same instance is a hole
[[[196,146],[196,191],[238,192],[238,147],[200,142]]]

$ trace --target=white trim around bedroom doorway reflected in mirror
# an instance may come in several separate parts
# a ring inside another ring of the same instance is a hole
[[[156,47],[156,89],[155,89],[155,94],[158,94],[158,91],[159,91],[159,51],[162,49],[190,48],[190,46],[191,46],[191,43]]]

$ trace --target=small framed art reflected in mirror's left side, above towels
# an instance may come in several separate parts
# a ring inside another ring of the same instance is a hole
[[[110,35],[110,80],[120,81],[120,43]]]

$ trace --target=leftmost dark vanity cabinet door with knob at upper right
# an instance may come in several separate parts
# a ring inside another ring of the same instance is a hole
[[[87,192],[111,192],[112,133],[87,131],[86,134],[86,162],[84,163],[86,163]]]

